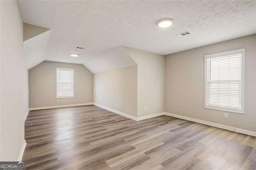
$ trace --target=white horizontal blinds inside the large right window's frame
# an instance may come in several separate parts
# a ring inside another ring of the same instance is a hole
[[[241,109],[242,54],[206,59],[206,105]]]

